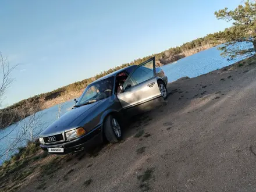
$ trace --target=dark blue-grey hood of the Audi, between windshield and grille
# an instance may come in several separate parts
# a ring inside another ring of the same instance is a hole
[[[51,136],[55,133],[61,133],[62,131],[69,130],[72,128],[79,127],[74,123],[77,119],[84,119],[90,113],[91,109],[97,107],[101,102],[94,102],[92,104],[87,104],[80,106],[79,108],[74,108],[69,112],[66,112],[61,118],[55,120],[54,123],[49,125],[44,131],[40,133],[40,137]]]

